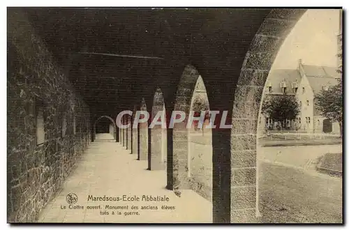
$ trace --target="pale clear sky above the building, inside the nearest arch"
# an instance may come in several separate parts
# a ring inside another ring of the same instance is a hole
[[[272,69],[297,68],[302,63],[336,67],[339,10],[310,9],[290,31]]]

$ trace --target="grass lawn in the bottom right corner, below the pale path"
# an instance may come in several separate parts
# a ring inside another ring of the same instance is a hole
[[[341,178],[312,176],[304,171],[260,164],[262,223],[341,223]]]

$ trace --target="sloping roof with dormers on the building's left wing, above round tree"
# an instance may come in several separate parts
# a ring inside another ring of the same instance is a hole
[[[286,94],[295,94],[292,91],[292,83],[298,82],[299,84],[301,82],[301,75],[299,75],[298,70],[292,69],[278,69],[269,72],[265,84],[266,87],[268,87],[269,84],[272,84],[272,93],[269,94],[283,94],[280,88],[280,83],[284,80],[286,83]]]

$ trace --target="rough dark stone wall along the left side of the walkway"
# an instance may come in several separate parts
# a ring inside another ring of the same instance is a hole
[[[8,222],[34,222],[89,144],[89,108],[21,13],[8,15],[7,86]],[[40,145],[38,102],[45,130]]]

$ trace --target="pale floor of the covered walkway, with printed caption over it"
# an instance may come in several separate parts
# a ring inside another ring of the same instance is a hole
[[[181,197],[177,197],[165,185],[165,171],[147,170],[147,161],[137,160],[137,155],[130,154],[111,135],[99,134],[67,178],[63,190],[41,211],[38,222],[212,222],[209,201],[191,190],[181,191]],[[71,206],[66,199],[70,193],[77,196],[77,202]],[[88,201],[89,196],[122,199],[124,195],[140,197],[140,201]],[[167,196],[169,201],[142,201],[143,195]],[[107,205],[117,209],[105,209]],[[102,215],[105,212],[108,215]]]

